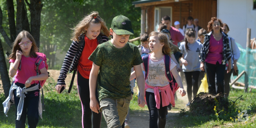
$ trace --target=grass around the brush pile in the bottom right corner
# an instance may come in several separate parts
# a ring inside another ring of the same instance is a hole
[[[256,127],[256,114],[255,114],[255,103],[256,103],[256,90],[253,90],[252,93],[244,93],[244,90],[232,89],[230,91],[230,98],[232,101],[235,101],[241,95],[242,98],[239,98],[236,103],[237,109],[233,111],[231,114],[222,115],[220,121],[218,121],[216,115],[208,115],[208,116],[194,116],[190,115],[184,111],[182,114],[177,114],[175,116],[175,127],[202,127],[202,128],[211,128],[211,127],[242,127],[242,128],[255,128]],[[250,107],[251,106],[251,107]],[[235,118],[232,117],[234,121],[230,119],[229,115],[237,115],[238,110],[243,111],[247,110],[247,114],[249,114],[250,118],[247,122],[235,121]],[[185,113],[185,115],[184,115]],[[221,114],[221,113],[220,113]],[[219,114],[219,115],[220,115]],[[224,114],[224,113],[223,113]],[[225,117],[226,116],[226,117]],[[167,121],[172,121],[167,120]]]

